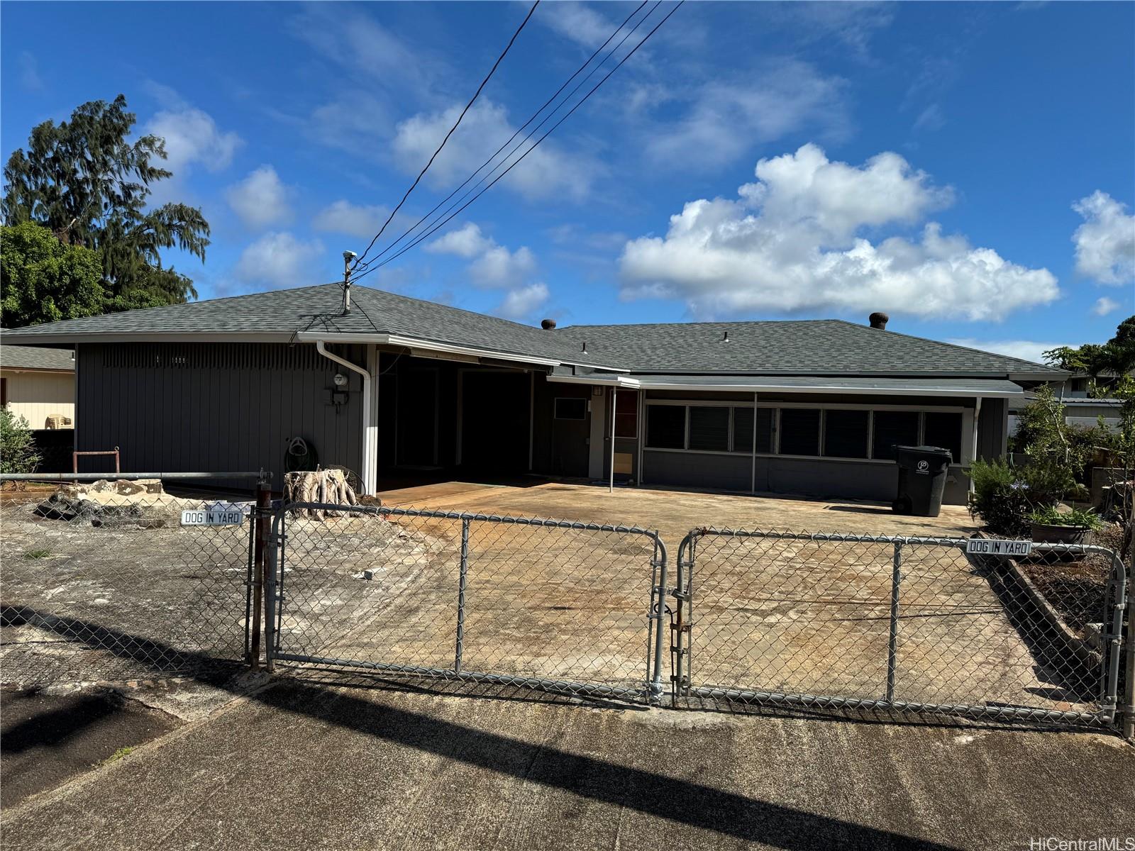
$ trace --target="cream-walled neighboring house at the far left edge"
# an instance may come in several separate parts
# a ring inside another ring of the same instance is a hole
[[[7,338],[9,331],[3,331]],[[75,359],[69,349],[0,345],[0,404],[33,429],[75,422]]]

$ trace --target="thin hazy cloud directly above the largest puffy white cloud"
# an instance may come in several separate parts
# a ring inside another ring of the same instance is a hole
[[[844,87],[798,60],[766,62],[743,79],[714,79],[688,93],[683,118],[650,128],[647,155],[684,170],[715,168],[808,127],[840,135],[849,124]]]

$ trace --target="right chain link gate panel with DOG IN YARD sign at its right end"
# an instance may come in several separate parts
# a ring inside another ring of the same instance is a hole
[[[1118,555],[973,551],[982,540],[690,531],[671,592],[674,706],[1113,725]]]

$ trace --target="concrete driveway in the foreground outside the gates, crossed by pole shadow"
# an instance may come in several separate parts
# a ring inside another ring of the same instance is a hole
[[[1027,849],[1135,834],[1088,734],[285,681],[3,814],[22,849]],[[1123,845],[1120,845],[1123,846]]]

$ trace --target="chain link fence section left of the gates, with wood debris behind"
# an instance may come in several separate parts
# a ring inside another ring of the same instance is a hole
[[[238,667],[261,473],[0,477],[0,681],[31,688]],[[202,480],[247,491],[195,491]]]

